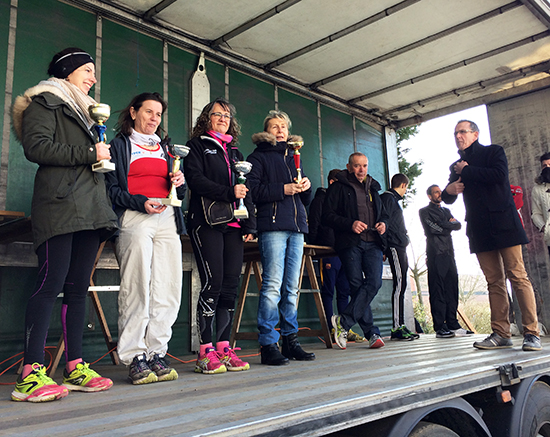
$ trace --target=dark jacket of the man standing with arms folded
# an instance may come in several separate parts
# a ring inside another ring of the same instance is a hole
[[[433,260],[438,255],[454,256],[452,231],[458,231],[462,224],[450,222],[454,218],[451,211],[432,202],[418,211],[420,221],[426,234],[426,256]]]

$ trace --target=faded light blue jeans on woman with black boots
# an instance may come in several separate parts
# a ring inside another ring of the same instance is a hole
[[[304,234],[290,231],[260,232],[258,247],[263,275],[258,304],[258,340],[261,346],[277,343],[281,335],[298,332],[298,286],[304,252]],[[279,320],[280,314],[280,320]]]

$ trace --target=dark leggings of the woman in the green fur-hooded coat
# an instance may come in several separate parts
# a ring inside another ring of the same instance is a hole
[[[99,231],[80,231],[57,235],[38,247],[38,278],[25,314],[24,364],[44,362],[50,317],[61,292],[65,359],[82,357],[86,295],[99,243]]]

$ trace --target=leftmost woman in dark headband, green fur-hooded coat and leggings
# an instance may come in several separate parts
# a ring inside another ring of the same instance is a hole
[[[31,207],[38,278],[25,315],[25,356],[12,400],[60,399],[68,390],[101,391],[112,386],[82,360],[86,295],[102,241],[118,228],[103,174],[92,164],[109,159],[109,146],[96,143],[88,96],[96,83],[93,58],[68,48],[50,63],[48,80],[17,97],[13,128],[26,158],[38,165]],[[61,323],[66,367],[63,385],[46,376],[44,344],[50,317],[63,293]]]

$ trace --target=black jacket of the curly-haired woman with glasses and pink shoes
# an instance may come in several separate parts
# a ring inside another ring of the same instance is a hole
[[[238,207],[238,199],[235,197],[234,185],[236,184],[237,174],[233,170],[232,164],[237,161],[243,161],[243,154],[235,145],[228,147],[227,159],[231,163],[231,174],[227,168],[226,153],[221,144],[210,135],[201,135],[191,138],[187,142],[190,151],[184,160],[185,177],[191,190],[189,199],[189,212],[187,213],[187,225],[190,229],[197,226],[208,226],[204,218],[204,210],[201,197],[204,196],[211,200],[232,203]],[[245,185],[250,189],[247,181]],[[249,218],[239,220],[243,234],[254,234],[256,232],[256,217],[254,215],[254,204],[250,192],[247,193],[244,204],[248,210]],[[234,221],[237,221],[236,219]],[[227,224],[214,226],[215,229],[223,232],[227,229]]]

